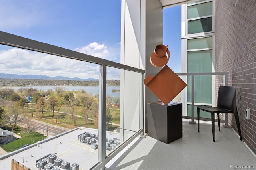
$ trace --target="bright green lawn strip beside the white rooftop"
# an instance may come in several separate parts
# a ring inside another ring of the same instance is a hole
[[[30,136],[28,136],[28,133],[22,133],[19,135],[22,136],[22,138],[19,138],[17,140],[14,140],[13,142],[5,144],[5,145],[1,146],[1,148],[4,149],[6,152],[12,152],[14,150],[18,150],[25,144],[29,144],[29,145],[34,144],[34,143],[46,138],[46,136],[44,136],[43,134],[37,133],[37,132],[30,132]]]

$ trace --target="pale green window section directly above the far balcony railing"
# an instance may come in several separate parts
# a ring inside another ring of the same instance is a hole
[[[212,50],[188,51],[188,73],[212,72]]]

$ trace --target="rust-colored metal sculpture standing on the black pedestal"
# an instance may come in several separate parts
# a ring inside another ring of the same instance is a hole
[[[150,62],[154,67],[165,66],[154,77],[149,75],[144,79],[144,84],[162,101],[159,104],[164,105],[168,105],[168,103],[187,86],[187,84],[166,65],[169,58],[170,51],[168,45],[157,45],[150,56]]]

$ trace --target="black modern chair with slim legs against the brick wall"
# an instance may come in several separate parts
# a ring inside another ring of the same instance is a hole
[[[240,123],[238,118],[238,112],[236,108],[236,86],[220,86],[218,91],[217,107],[197,107],[197,120],[198,120],[198,132],[199,132],[199,118],[200,118],[200,109],[212,114],[212,137],[215,142],[215,113],[218,117],[218,125],[220,131],[220,113],[233,113],[236,119],[236,125],[240,140],[242,141]]]

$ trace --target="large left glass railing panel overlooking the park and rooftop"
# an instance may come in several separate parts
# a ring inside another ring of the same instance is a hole
[[[28,168],[40,166],[36,161],[42,159],[54,163],[54,158],[80,169],[97,164],[99,65],[6,45],[0,45],[0,56],[0,94],[8,92],[0,97],[1,107],[15,125],[13,132],[28,138],[25,143],[22,138],[15,140],[19,147],[14,152],[46,138],[40,147],[16,153],[16,158],[31,154],[22,163]],[[40,135],[36,140],[34,136]],[[56,157],[50,159],[49,153]]]

